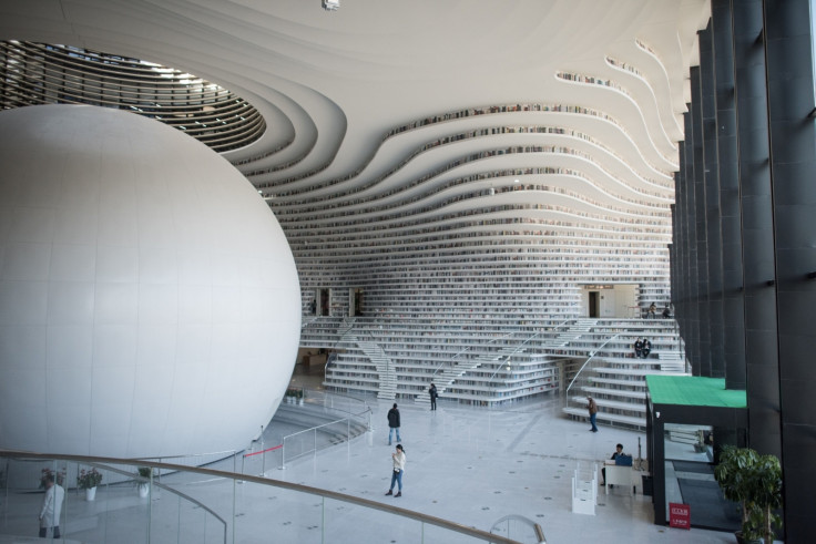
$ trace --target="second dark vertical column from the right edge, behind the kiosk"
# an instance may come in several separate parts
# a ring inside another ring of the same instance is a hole
[[[776,271],[762,0],[734,4],[748,440],[779,443]],[[772,438],[773,437],[773,438]],[[766,448],[766,452],[778,452]]]

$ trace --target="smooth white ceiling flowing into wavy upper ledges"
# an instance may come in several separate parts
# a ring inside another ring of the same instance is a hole
[[[605,203],[619,209],[613,216],[659,217],[670,233],[687,68],[708,13],[707,0],[341,0],[333,12],[320,0],[0,0],[0,39],[135,57],[247,99],[265,115],[267,133],[225,156],[244,161],[242,172],[275,195],[272,206],[287,235],[305,228],[327,202],[340,206],[346,195],[371,195],[380,204],[405,198],[398,209],[406,211],[442,195],[411,203],[409,192],[384,193],[420,179],[424,187],[441,186],[469,172],[541,167],[579,173],[547,182],[522,176],[572,193],[539,196],[547,202],[574,206],[579,215]],[[564,81],[560,72],[612,86]],[[385,138],[411,122],[510,104],[593,114],[477,115]],[[567,134],[497,134],[420,152],[439,138],[497,126]],[[568,151],[467,158],[552,145]],[[463,164],[451,166],[455,161]],[[357,193],[361,187],[368,188]],[[284,196],[290,191],[296,194]],[[298,205],[303,213],[283,213]],[[351,225],[374,213],[371,206],[358,205],[354,218],[336,222]]]

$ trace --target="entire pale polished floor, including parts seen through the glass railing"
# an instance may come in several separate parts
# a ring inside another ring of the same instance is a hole
[[[293,386],[310,389],[319,389],[320,381],[319,370],[309,374],[296,369],[292,379]],[[640,485],[634,494],[631,489],[621,486],[604,494],[603,487],[599,486],[594,515],[574,513],[571,487],[579,463],[588,466],[608,459],[618,442],[636,461],[639,439],[643,443],[641,453],[645,455],[645,437],[603,427],[598,433],[589,432],[588,424],[561,415],[561,402],[557,397],[492,410],[462,407],[441,399],[438,410],[430,411],[427,404],[398,401],[401,412],[400,443],[406,450],[407,465],[402,496],[386,496],[391,474],[390,454],[394,451],[394,445],[388,445],[386,419],[391,401],[369,398],[366,402],[373,411],[371,431],[364,431],[351,441],[287,461],[285,468],[271,456],[268,465],[263,466],[264,474],[271,479],[381,501],[483,531],[490,531],[506,516],[523,516],[543,528],[549,544],[734,542],[734,535],[728,532],[685,531],[654,525],[651,497],[643,495]],[[290,407],[295,410],[298,408]],[[307,399],[303,410],[308,411],[309,408]],[[261,449],[274,448],[284,435],[298,430],[282,419],[273,419],[264,432]],[[232,462],[216,463],[221,464],[225,465],[214,468],[232,470],[226,466]],[[220,479],[187,482],[186,485],[181,489],[186,493],[193,493],[193,490],[203,493],[205,503],[228,496],[234,489],[232,481]],[[249,497],[251,490],[258,493],[255,487],[241,487],[245,489],[242,494],[246,497]],[[112,487],[101,493],[96,503],[74,499],[67,505],[67,509],[73,507],[79,512],[76,521],[63,527],[69,535],[64,542],[145,542],[141,536],[144,534],[144,519],[129,515],[134,512],[135,505],[144,507],[144,502],[140,503],[132,489]],[[269,496],[253,495],[252,502],[246,503],[247,510],[236,514],[241,536],[233,536],[235,542],[320,542],[314,538],[314,533],[320,531],[319,526],[312,522],[306,524],[308,526],[302,523],[299,513],[293,511],[295,505],[290,503],[290,496],[284,499],[273,487],[261,490],[259,493],[268,493]],[[31,494],[16,497],[13,506],[2,504],[3,521],[0,525],[4,527],[4,535],[0,535],[0,543],[43,542],[34,536],[35,522],[31,514],[37,511],[41,500],[39,494]],[[273,500],[277,501],[271,502]],[[310,509],[314,504],[309,502],[315,501],[307,501],[297,507]],[[271,504],[278,504],[278,507],[269,509]],[[288,510],[279,507],[284,505]],[[82,516],[85,510],[90,512],[96,507],[108,513],[102,517]],[[259,515],[253,516],[252,509],[257,510],[255,514]],[[85,527],[83,523],[94,526]],[[185,522],[169,521],[171,536],[174,523]],[[253,524],[257,526],[253,527]],[[298,528],[302,525],[305,528]],[[415,534],[408,534],[396,524],[379,526],[378,532],[375,532],[371,530],[374,521],[370,526],[355,526],[339,532],[335,528],[338,525],[333,524],[330,537],[326,542],[450,542],[450,534],[445,540],[425,535],[424,541],[418,541]],[[274,534],[269,534],[271,527],[275,527]],[[299,531],[312,533],[306,535]],[[522,542],[534,542],[512,534],[510,536]],[[231,538],[227,541],[232,542]],[[194,541],[187,538],[185,542]]]

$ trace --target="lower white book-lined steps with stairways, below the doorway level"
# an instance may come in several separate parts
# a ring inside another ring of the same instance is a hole
[[[595,353],[592,370],[598,378],[586,378],[589,370],[584,369],[571,394],[596,396],[610,414],[615,409],[642,415],[644,376],[684,370],[682,362],[677,365],[676,358],[682,361],[683,356],[674,327],[671,319],[568,319],[510,325],[500,317],[316,318],[304,329],[302,345],[324,347],[335,353],[325,371],[325,386],[329,389],[427,403],[428,386],[434,382],[441,399],[476,406],[503,406],[564,391],[584,361]],[[635,333],[651,339],[650,359],[632,357]],[[665,365],[669,355],[675,357],[672,365]],[[665,368],[661,368],[661,357]],[[606,365],[623,370],[604,370]],[[632,369],[636,371],[630,372]],[[614,379],[604,381],[608,374]],[[602,393],[602,383],[610,391]],[[619,397],[624,400],[615,401]],[[575,403],[580,404],[580,400]],[[585,415],[585,410],[575,415]],[[604,419],[641,425],[640,420],[613,420],[614,417]]]

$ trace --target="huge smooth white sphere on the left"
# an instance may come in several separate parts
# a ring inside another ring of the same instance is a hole
[[[0,447],[244,448],[299,329],[283,230],[215,152],[114,110],[0,112]]]

